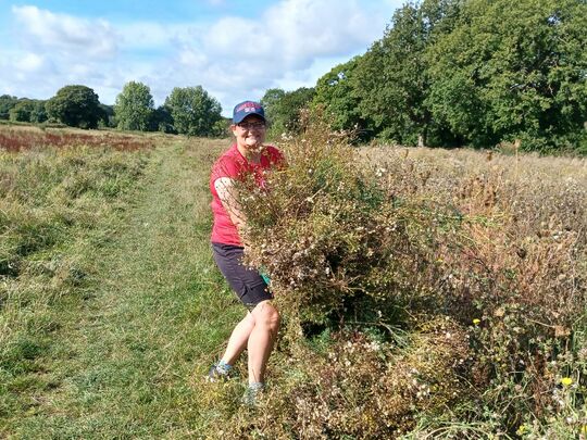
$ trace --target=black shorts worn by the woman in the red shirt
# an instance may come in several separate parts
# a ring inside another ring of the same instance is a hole
[[[273,299],[259,272],[242,264],[243,248],[212,242],[212,251],[222,275],[247,309],[253,310],[260,302]]]

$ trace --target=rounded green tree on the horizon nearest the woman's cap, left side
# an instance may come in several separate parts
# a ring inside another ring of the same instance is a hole
[[[222,120],[222,106],[202,86],[175,87],[165,99],[177,133],[188,136],[214,136],[214,126]]]

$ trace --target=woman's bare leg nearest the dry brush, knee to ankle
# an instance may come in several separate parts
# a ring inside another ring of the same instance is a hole
[[[249,384],[263,382],[265,367],[279,329],[279,312],[270,300],[262,301],[250,313],[254,322],[249,335]]]

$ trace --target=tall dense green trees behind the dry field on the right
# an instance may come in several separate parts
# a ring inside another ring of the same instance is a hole
[[[270,89],[274,128],[303,106],[335,129],[405,146],[587,153],[586,0],[424,0],[315,87]]]

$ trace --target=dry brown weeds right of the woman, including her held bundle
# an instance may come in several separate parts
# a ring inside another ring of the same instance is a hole
[[[245,184],[241,203],[285,355],[266,416],[234,416],[228,436],[587,429],[585,163],[559,176],[570,161],[365,160],[321,123],[280,147],[287,168],[268,192]]]

